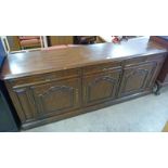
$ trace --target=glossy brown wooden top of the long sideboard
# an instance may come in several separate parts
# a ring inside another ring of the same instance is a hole
[[[156,42],[148,42],[147,38],[137,38],[120,44],[98,43],[15,53],[8,55],[2,68],[1,79],[5,80],[165,52],[167,50]]]

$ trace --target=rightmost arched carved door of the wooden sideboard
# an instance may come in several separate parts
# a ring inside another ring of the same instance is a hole
[[[138,93],[146,89],[156,66],[156,62],[150,62],[143,65],[126,67],[124,69],[119,96]]]

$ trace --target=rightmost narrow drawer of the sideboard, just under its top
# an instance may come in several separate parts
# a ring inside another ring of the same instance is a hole
[[[150,61],[155,61],[155,60],[161,61],[164,59],[165,59],[165,54],[145,55],[145,56],[128,59],[125,61],[124,65],[132,66],[132,65],[141,64],[141,63],[150,62]]]

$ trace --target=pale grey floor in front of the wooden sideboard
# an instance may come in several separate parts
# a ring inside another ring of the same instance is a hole
[[[168,120],[168,88],[27,132],[159,132]]]

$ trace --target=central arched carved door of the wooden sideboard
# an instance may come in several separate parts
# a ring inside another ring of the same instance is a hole
[[[121,69],[83,77],[85,105],[113,100],[119,86]]]

